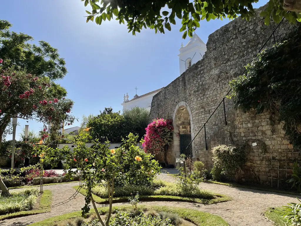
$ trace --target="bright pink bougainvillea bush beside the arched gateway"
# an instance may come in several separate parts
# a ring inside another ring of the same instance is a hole
[[[146,134],[144,136],[144,142],[142,146],[145,152],[157,155],[159,153],[164,154],[164,161],[167,162],[168,145],[172,142],[172,120],[170,119],[155,119],[151,124],[148,124]]]

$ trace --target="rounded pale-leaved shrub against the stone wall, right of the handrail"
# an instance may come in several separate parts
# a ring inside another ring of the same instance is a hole
[[[242,168],[246,162],[244,149],[241,146],[219,145],[212,149],[213,164],[221,169],[222,174],[235,177],[237,183],[242,176]]]

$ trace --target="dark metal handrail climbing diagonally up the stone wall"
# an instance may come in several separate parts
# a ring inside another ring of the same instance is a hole
[[[271,35],[268,37],[268,39],[265,41],[265,43],[261,46],[261,48],[259,49],[259,51],[256,53],[256,55],[254,55],[253,59],[251,62],[254,61],[254,59],[257,57],[257,55],[262,51],[262,49],[265,47],[266,43],[273,37],[274,39],[274,44],[276,44],[276,39],[275,39],[275,31],[278,29],[278,27],[280,26],[280,24],[282,24],[284,20],[284,17],[282,18],[282,20],[280,21],[280,23],[275,27],[275,29],[273,30],[273,32],[271,33]],[[240,74],[243,75],[244,73],[246,73],[246,69]],[[222,101],[219,103],[219,105],[217,105],[217,107],[214,109],[214,111],[212,112],[212,114],[209,116],[209,118],[207,119],[207,121],[203,124],[203,126],[200,128],[200,130],[197,132],[197,134],[194,136],[194,138],[191,140],[191,142],[188,144],[188,146],[186,147],[186,149],[188,149],[188,153],[190,156],[193,156],[192,153],[192,142],[194,141],[194,139],[197,137],[197,135],[200,133],[200,131],[202,129],[204,129],[204,133],[205,133],[205,146],[206,146],[206,150],[208,150],[208,146],[207,146],[207,138],[206,138],[206,123],[209,121],[209,119],[214,115],[214,113],[216,112],[216,110],[219,108],[219,106],[221,104],[224,105],[224,116],[225,116],[225,124],[227,125],[227,119],[226,119],[226,108],[225,108],[225,98],[227,98],[227,96],[229,95],[229,93],[231,92],[232,89],[230,89],[228,91],[228,93],[224,96],[224,98],[222,99]],[[191,148],[190,148],[191,147]]]

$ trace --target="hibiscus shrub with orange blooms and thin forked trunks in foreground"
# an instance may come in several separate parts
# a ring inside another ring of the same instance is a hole
[[[81,171],[82,180],[87,187],[86,203],[82,208],[82,214],[86,215],[89,212],[89,204],[92,202],[99,222],[102,226],[108,226],[112,213],[115,181],[123,178],[128,180],[128,183],[132,183],[132,174],[136,174],[137,177],[149,175],[150,178],[153,178],[160,168],[157,161],[151,160],[153,157],[151,154],[145,153],[137,146],[138,137],[132,133],[129,134],[126,140],[123,140],[121,147],[108,149],[109,143],[102,144],[99,140],[92,140],[91,135],[87,132],[89,129],[80,132],[76,137],[73,152],[67,146],[62,149],[53,149],[45,145],[37,146],[36,152],[43,163],[55,165],[59,160],[66,160],[65,169],[77,168]],[[87,147],[86,142],[92,142],[94,145]],[[70,170],[68,173],[72,177]],[[92,189],[102,181],[107,186],[110,203],[106,221],[101,219],[92,197]]]

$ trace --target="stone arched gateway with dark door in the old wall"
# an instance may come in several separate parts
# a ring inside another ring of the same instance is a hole
[[[178,158],[180,154],[185,154],[186,156],[190,155],[190,157],[195,157],[194,143],[192,143],[192,146],[190,147],[190,151],[186,149],[186,147],[194,137],[193,119],[192,119],[190,108],[186,102],[181,101],[177,104],[173,114],[172,122],[173,122],[173,127],[175,128],[173,133],[175,157]]]

